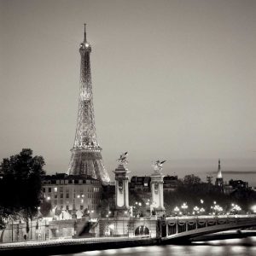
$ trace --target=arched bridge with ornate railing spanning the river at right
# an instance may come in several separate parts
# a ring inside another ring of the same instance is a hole
[[[256,226],[256,215],[184,216],[159,221],[160,238],[163,243],[253,226]]]

